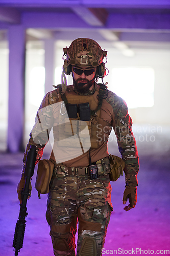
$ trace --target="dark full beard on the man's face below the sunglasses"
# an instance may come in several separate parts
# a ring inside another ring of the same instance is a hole
[[[80,82],[81,81],[81,82]],[[77,80],[73,79],[73,84],[78,93],[88,93],[90,87],[93,85],[94,79],[89,81],[86,78],[78,78]]]

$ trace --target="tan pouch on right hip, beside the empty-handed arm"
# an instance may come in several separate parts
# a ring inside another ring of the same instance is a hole
[[[110,173],[109,177],[111,181],[116,181],[120,175],[123,175],[123,170],[125,168],[125,162],[122,158],[109,155],[110,162]]]

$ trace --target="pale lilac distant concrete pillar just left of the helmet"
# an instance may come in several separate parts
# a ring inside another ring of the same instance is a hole
[[[55,40],[45,39],[45,93],[54,90],[55,82]]]

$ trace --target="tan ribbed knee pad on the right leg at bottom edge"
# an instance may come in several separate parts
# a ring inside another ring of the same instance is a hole
[[[83,239],[82,246],[80,248],[79,256],[96,256],[97,248],[96,242],[93,238]]]

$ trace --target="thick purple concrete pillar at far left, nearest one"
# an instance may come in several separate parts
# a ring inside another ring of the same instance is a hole
[[[9,152],[23,150],[25,122],[25,29],[21,25],[9,27],[9,104],[8,139]]]

